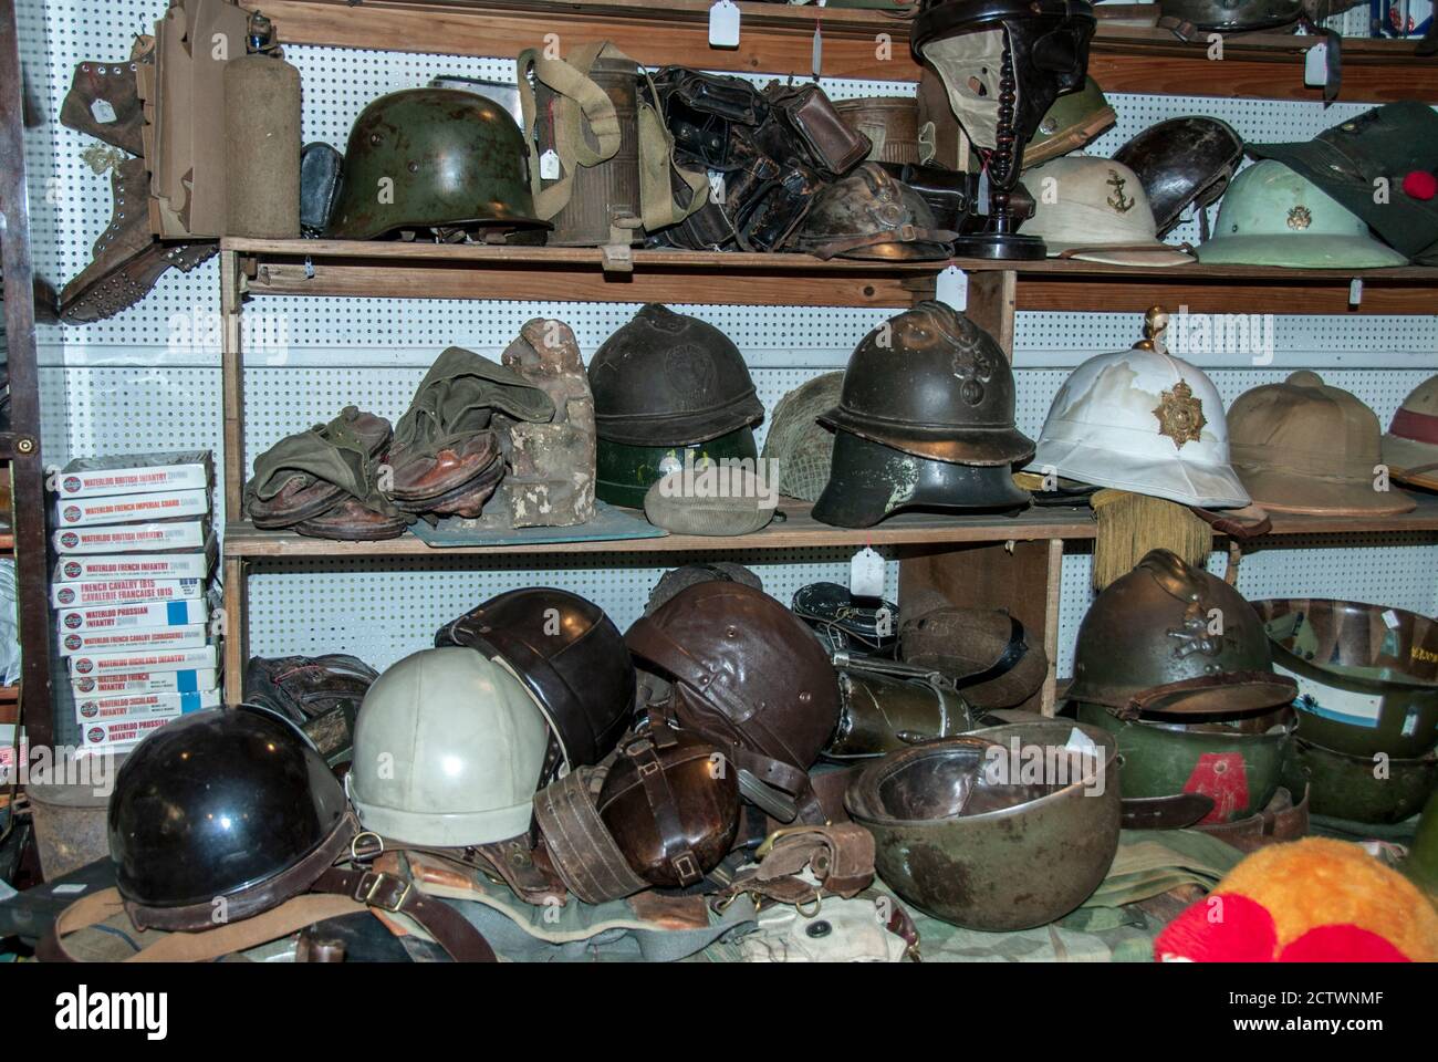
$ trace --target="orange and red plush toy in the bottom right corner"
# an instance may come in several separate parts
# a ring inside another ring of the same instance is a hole
[[[1438,911],[1398,871],[1343,840],[1245,858],[1153,941],[1160,961],[1432,963]]]

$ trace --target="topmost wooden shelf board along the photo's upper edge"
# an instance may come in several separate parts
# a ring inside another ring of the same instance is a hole
[[[400,52],[510,58],[559,36],[562,49],[610,40],[647,66],[810,76],[815,22],[823,19],[824,68],[831,78],[916,81],[909,19],[860,9],[739,3],[735,49],[709,46],[710,0],[244,0],[263,10],[282,43],[375,47]],[[1100,9],[1102,13],[1102,9]],[[1438,101],[1438,60],[1418,58],[1412,40],[1343,42],[1346,102]],[[1208,40],[1183,42],[1169,30],[1100,22],[1089,72],[1107,92],[1322,99],[1303,83],[1311,37],[1284,33],[1225,35],[1224,58]],[[437,73],[439,71],[436,71]]]

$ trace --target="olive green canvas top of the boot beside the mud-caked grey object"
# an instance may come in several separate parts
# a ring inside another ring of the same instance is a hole
[[[394,449],[433,456],[489,427],[499,410],[516,420],[548,423],[554,401],[512,368],[463,347],[450,347],[424,374],[414,401],[394,426]]]

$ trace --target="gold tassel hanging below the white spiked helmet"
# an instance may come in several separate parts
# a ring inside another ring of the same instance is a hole
[[[1093,544],[1093,586],[1133,571],[1149,550],[1172,550],[1202,567],[1214,548],[1214,530],[1188,507],[1127,491],[1097,491],[1091,502],[1099,535]]]

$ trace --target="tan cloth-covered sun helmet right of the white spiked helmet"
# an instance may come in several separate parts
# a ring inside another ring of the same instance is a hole
[[[1228,410],[1228,450],[1254,504],[1274,512],[1389,515],[1416,505],[1396,488],[1373,488],[1378,416],[1317,373],[1241,394]]]

